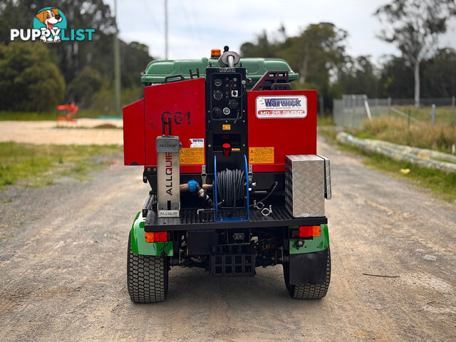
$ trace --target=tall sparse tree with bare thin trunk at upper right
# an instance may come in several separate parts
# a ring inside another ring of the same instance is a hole
[[[416,106],[420,105],[420,63],[455,14],[455,0],[393,0],[375,11],[385,24],[379,38],[394,43],[413,66]]]

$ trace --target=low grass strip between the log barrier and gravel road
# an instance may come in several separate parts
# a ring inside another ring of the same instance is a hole
[[[331,127],[319,128],[318,133],[323,135],[331,145],[336,145],[336,131]],[[414,185],[429,189],[434,195],[447,202],[456,201],[456,174],[445,173],[440,170],[427,169],[413,165],[410,162],[398,162],[376,153],[366,153],[357,147],[337,145],[346,152],[363,156],[363,164],[403,180]],[[400,172],[401,169],[410,169],[408,174]]]

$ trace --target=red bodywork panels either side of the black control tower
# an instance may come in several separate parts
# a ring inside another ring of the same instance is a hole
[[[145,87],[145,98],[124,108],[125,165],[157,166],[155,139],[162,135],[163,120],[171,118],[172,134],[178,135],[182,143],[180,172],[200,172],[206,155],[204,87],[204,78]],[[256,108],[257,101],[263,98],[280,100],[287,96],[301,96],[306,109],[301,113],[292,109],[279,113],[271,106],[266,114],[267,110]],[[277,90],[247,91],[247,113],[249,164],[253,172],[284,172],[285,155],[316,154],[315,90],[281,90],[280,95]],[[229,132],[228,122],[219,125]]]

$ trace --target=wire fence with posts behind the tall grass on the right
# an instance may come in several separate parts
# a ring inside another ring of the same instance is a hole
[[[368,98],[366,95],[343,95],[333,100],[333,121],[346,128],[361,128],[364,121],[383,116],[404,118],[409,122],[455,125],[455,97],[422,98],[415,107],[413,98]]]

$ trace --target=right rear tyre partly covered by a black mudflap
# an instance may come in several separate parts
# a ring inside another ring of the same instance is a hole
[[[319,253],[319,252],[318,252]],[[299,284],[292,285],[289,282],[289,263],[284,263],[284,279],[286,289],[291,297],[295,299],[321,299],[326,296],[331,280],[331,253],[328,247],[328,257],[326,258],[326,269],[321,270],[326,272],[325,282],[323,284]]]

